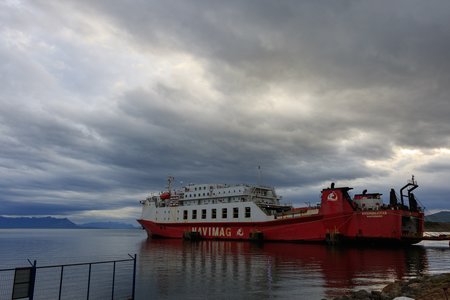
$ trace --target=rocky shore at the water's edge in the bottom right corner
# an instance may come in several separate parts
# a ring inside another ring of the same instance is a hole
[[[382,291],[359,290],[334,300],[450,300],[450,273],[414,278],[408,281],[395,281]]]

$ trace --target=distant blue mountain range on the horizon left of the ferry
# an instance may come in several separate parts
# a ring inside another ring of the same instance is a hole
[[[0,228],[133,229],[137,227],[131,224],[119,222],[93,222],[85,224],[75,224],[67,218],[0,216]]]

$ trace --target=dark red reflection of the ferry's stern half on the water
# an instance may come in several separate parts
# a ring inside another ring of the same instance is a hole
[[[371,249],[333,248],[323,245],[265,244],[275,266],[295,265],[297,270],[317,272],[324,297],[349,289],[381,288],[389,282],[421,274],[427,267],[422,247]],[[278,271],[285,272],[284,267]]]

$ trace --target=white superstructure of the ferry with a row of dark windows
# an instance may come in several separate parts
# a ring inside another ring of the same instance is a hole
[[[274,188],[259,185],[189,184],[148,197],[142,219],[157,223],[224,223],[274,220],[291,206],[280,205]]]

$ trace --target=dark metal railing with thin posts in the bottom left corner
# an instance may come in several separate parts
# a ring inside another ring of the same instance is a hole
[[[3,299],[134,299],[136,254],[128,259],[0,269]]]

